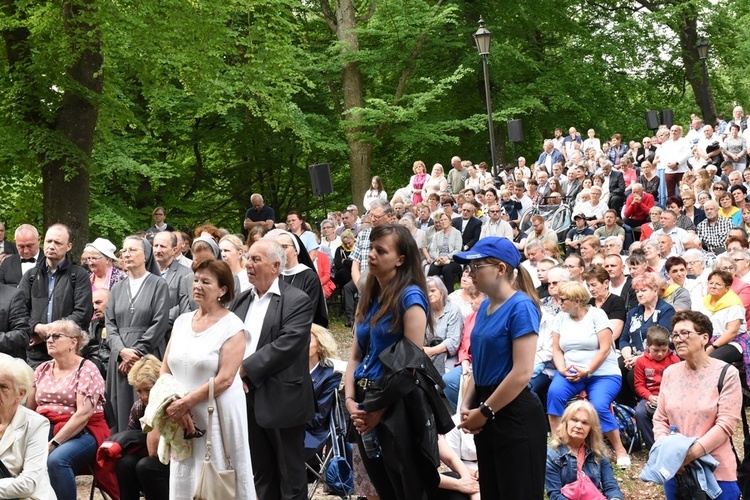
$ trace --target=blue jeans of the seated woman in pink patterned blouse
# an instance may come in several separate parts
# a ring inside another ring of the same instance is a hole
[[[88,432],[65,441],[47,458],[52,489],[57,498],[76,498],[76,471],[96,458],[96,440]]]

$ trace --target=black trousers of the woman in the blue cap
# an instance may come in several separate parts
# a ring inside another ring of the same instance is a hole
[[[477,387],[479,401],[494,387]],[[527,387],[474,436],[482,498],[542,500],[547,425],[542,404]]]

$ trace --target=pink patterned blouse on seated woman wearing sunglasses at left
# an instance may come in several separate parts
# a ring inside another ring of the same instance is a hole
[[[37,412],[46,408],[58,415],[72,415],[76,412],[77,394],[89,398],[94,413],[104,411],[104,379],[94,363],[84,361],[80,370],[60,380],[55,379],[54,366],[54,360],[47,361],[34,372]]]

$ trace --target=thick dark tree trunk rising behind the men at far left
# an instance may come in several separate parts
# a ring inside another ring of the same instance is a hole
[[[62,155],[42,155],[44,226],[62,222],[73,235],[73,256],[78,258],[89,233],[89,159],[94,145],[98,107],[94,101],[102,91],[100,33],[86,19],[93,14],[93,0],[63,3],[65,31],[76,52],[67,76],[74,84],[63,92],[54,131],[62,139]],[[75,86],[74,86],[75,85]],[[76,88],[80,86],[80,88]]]

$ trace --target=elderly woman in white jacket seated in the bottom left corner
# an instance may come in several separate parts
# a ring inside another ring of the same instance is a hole
[[[21,406],[33,381],[29,365],[0,354],[0,498],[55,498],[47,474],[49,420]]]

